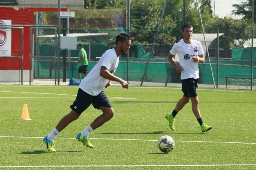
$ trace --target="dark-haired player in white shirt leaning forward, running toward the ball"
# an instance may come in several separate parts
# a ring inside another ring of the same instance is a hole
[[[113,74],[118,66],[119,56],[121,54],[126,54],[130,49],[130,45],[131,37],[129,35],[117,35],[115,48],[105,51],[99,59],[99,62],[97,62],[87,77],[81,81],[76,100],[73,102],[73,105],[70,106],[72,111],[64,116],[52,132],[43,139],[49,151],[56,151],[53,148],[53,141],[56,135],[71,122],[78,119],[81,113],[91,104],[93,104],[94,108],[100,109],[102,115],[98,116],[88,127],[80,132],[76,136],[76,139],[81,141],[87,147],[93,148],[93,145],[89,142],[89,134],[96,128],[102,126],[105,122],[108,122],[114,115],[108,97],[102,89],[111,85],[111,80],[119,82],[122,85],[122,88],[128,89],[129,87],[129,82],[116,77]]]

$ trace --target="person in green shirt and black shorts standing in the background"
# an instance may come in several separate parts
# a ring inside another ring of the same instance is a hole
[[[79,66],[78,68],[78,78],[81,79],[81,73],[84,74],[84,76],[87,76],[87,66],[88,66],[88,60],[87,60],[87,54],[86,51],[83,48],[83,45],[81,43],[79,43],[77,45],[79,51],[79,61],[76,62],[76,65]]]

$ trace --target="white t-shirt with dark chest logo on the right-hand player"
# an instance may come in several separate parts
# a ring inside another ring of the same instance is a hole
[[[198,62],[193,62],[192,57],[199,57],[204,54],[201,42],[191,40],[191,44],[184,41],[177,42],[170,50],[170,54],[178,54],[180,66],[182,67],[180,79],[199,78]]]

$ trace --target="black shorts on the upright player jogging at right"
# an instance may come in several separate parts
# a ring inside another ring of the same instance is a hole
[[[198,87],[198,79],[189,78],[182,79],[182,91],[185,97],[196,97],[196,88]]]

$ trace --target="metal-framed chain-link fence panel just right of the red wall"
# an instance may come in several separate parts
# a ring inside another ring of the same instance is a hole
[[[57,85],[57,28],[31,27],[30,33],[30,84]]]

